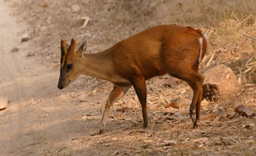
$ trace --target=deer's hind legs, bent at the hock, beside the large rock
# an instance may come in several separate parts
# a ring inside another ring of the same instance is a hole
[[[193,122],[193,127],[196,128],[196,123],[200,120],[200,109],[201,109],[201,99],[202,99],[202,85],[203,85],[203,76],[198,74],[193,69],[176,69],[176,73],[174,71],[169,71],[168,73],[177,77],[178,79],[182,79],[192,87],[193,89],[193,99],[191,102],[191,106],[189,109],[189,113]]]

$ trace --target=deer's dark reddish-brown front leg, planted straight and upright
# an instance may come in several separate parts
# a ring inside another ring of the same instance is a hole
[[[146,108],[146,83],[144,77],[138,77],[132,80],[132,85],[136,91],[136,94],[139,98],[139,102],[142,105],[142,114],[143,114],[143,126],[146,128],[148,124],[147,108]]]

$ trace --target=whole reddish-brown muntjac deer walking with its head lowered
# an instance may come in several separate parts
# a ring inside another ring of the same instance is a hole
[[[142,105],[144,128],[148,124],[146,110],[146,79],[170,74],[183,79],[193,89],[189,109],[193,127],[199,121],[203,76],[198,74],[198,65],[207,49],[206,35],[200,29],[177,25],[163,25],[149,28],[120,41],[111,48],[85,54],[83,43],[75,51],[76,41],[61,40],[60,79],[58,88],[63,89],[80,74],[105,79],[114,84],[107,99],[100,122],[100,134],[107,122],[110,107],[133,86]]]

